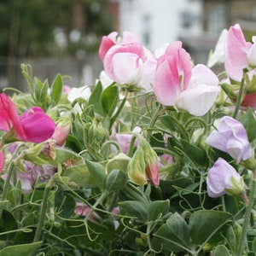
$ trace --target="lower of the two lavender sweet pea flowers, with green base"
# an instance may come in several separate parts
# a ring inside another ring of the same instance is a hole
[[[219,158],[207,175],[207,193],[210,197],[244,194],[243,180],[224,159]]]

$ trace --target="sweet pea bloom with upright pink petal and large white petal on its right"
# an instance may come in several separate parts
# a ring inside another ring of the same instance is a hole
[[[153,90],[161,104],[201,116],[212,108],[220,88],[217,76],[201,64],[192,68],[182,43],[174,42],[158,61]]]

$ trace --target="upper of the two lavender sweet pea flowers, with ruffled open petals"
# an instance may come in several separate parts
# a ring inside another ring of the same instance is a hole
[[[247,131],[244,126],[229,116],[220,119],[217,131],[207,137],[206,143],[224,151],[239,163],[252,157],[253,151],[247,138]]]

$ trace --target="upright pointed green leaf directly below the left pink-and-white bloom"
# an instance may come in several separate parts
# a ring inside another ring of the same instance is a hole
[[[105,90],[103,90],[101,97],[102,109],[105,113],[107,113],[108,117],[112,116],[118,102],[119,89],[116,84],[111,84]]]

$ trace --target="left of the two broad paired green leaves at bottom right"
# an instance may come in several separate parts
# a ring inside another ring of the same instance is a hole
[[[189,227],[176,212],[154,234],[152,246],[163,253],[179,253],[189,246]]]

